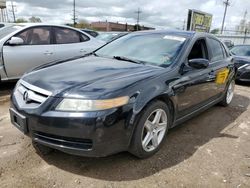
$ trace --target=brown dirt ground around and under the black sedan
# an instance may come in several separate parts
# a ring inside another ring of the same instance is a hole
[[[250,86],[237,85],[229,107],[214,106],[169,131],[161,150],[138,160],[56,151],[38,155],[10,123],[0,85],[0,187],[250,187]]]

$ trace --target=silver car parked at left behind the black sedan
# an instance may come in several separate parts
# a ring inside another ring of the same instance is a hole
[[[0,30],[0,80],[20,78],[52,61],[82,56],[105,43],[78,29],[51,24],[13,24]]]

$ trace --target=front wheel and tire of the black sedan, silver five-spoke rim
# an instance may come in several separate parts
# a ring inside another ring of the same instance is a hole
[[[159,114],[161,115],[158,123],[156,114],[158,119]],[[138,117],[129,152],[142,159],[154,155],[162,146],[170,124],[167,104],[162,101],[151,102]]]

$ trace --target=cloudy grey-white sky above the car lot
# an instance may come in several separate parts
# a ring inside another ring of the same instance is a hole
[[[73,0],[16,0],[17,18],[37,16],[43,22],[71,23]],[[249,13],[250,0],[230,0],[226,29],[234,29]],[[10,1],[7,1],[10,5]],[[8,10],[10,6],[8,6]],[[113,21],[135,24],[135,11],[140,7],[141,24],[156,28],[182,28],[188,9],[197,9],[213,15],[212,28],[220,28],[224,13],[223,0],[76,0],[78,21]],[[11,12],[9,18],[13,19]]]

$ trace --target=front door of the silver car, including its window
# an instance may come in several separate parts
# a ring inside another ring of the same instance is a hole
[[[55,60],[51,45],[51,27],[31,27],[15,37],[22,38],[24,43],[3,46],[4,65],[9,79],[19,78],[26,71]]]

